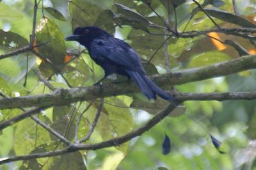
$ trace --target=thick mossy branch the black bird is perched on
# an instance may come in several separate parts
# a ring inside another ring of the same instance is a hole
[[[170,86],[175,84],[201,81],[204,79],[220,77],[252,68],[256,68],[256,56],[244,56],[211,66],[166,73],[163,75],[154,75],[151,78],[161,88],[170,88]],[[131,81],[104,84],[102,89],[103,97],[125,95],[140,91],[136,84]],[[92,100],[100,97],[101,93],[98,86],[91,86],[87,88],[57,89],[53,93],[47,95],[2,98],[0,100],[0,109],[68,105],[73,102]]]

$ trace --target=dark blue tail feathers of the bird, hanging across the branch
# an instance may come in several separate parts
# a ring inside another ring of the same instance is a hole
[[[156,95],[159,97],[171,101],[174,98],[172,95],[159,88],[151,79],[147,77],[144,73],[138,73],[134,71],[127,70],[127,73],[131,76],[131,78],[138,84],[141,91],[148,97],[148,99],[156,100]]]

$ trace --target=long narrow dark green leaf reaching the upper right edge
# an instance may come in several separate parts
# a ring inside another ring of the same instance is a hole
[[[205,8],[204,10],[205,12],[209,13],[209,15],[211,15],[212,17],[223,20],[225,22],[237,24],[242,27],[254,27],[254,28],[256,27],[256,25],[253,24],[252,22],[246,19],[243,19],[242,17],[239,17],[237,15],[233,15],[232,13],[228,13],[218,9],[209,9],[209,8]]]

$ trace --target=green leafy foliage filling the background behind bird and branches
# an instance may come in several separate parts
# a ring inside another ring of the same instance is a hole
[[[253,0],[237,1],[236,10],[239,15],[235,15],[231,0],[198,2],[220,27],[255,28],[256,4]],[[38,8],[33,44],[39,45],[34,50],[46,58],[25,52],[0,60],[0,92],[10,97],[51,92],[38,81],[32,68],[39,68],[54,88],[68,88],[59,73],[63,74],[72,87],[92,86],[93,82],[102,77],[102,68],[93,63],[84,47],[64,40],[64,35],[70,35],[77,26],[99,26],[125,40],[140,55],[148,75],[213,65],[239,58],[243,52],[256,53],[255,37],[250,39],[248,36],[209,31],[216,29],[215,24],[191,1],[72,0],[67,3],[51,0],[40,1],[38,5],[42,8]],[[0,56],[29,45],[33,6],[32,0],[0,1]],[[168,20],[166,23],[169,30],[163,20]],[[175,33],[175,29],[179,33],[188,33],[186,35],[189,35],[189,31],[205,33],[183,37],[173,35],[164,45],[166,36],[163,34]],[[237,45],[227,44],[225,40],[231,40]],[[255,70],[247,70],[175,88],[180,92],[195,93],[256,91],[255,76]],[[27,83],[23,86],[25,79]],[[123,80],[126,79],[118,75],[114,81]],[[86,110],[90,103],[92,106]],[[74,142],[77,117],[86,110],[77,132],[77,137],[81,139],[89,132],[99,105],[99,100],[94,100],[54,106],[42,110],[36,116]],[[99,122],[86,143],[125,135],[143,125],[152,114],[161,111],[166,105],[168,102],[161,99],[150,103],[140,93],[105,98]],[[252,146],[250,141],[256,137],[255,101],[188,101],[184,105],[185,109],[172,113],[145,134],[120,146],[12,162],[0,166],[0,169],[256,168],[255,154],[250,157],[250,153],[246,152]],[[0,123],[21,112],[20,109],[1,110]],[[163,141],[171,144],[168,144],[164,155]],[[223,146],[220,146],[220,141]],[[223,147],[225,154],[221,154],[214,146]],[[0,131],[1,158],[61,148],[65,148],[65,144],[57,141],[56,137],[29,118]],[[247,155],[241,158],[240,153]]]

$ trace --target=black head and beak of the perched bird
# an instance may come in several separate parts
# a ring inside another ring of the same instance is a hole
[[[76,41],[84,45],[85,47],[92,42],[95,38],[100,36],[109,36],[106,31],[103,31],[99,27],[88,26],[88,27],[76,27],[73,35],[67,36],[66,41]]]

